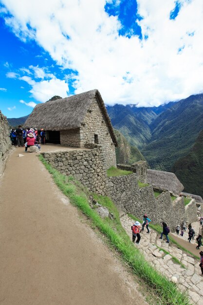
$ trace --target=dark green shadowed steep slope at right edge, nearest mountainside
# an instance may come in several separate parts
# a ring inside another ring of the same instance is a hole
[[[175,162],[172,172],[183,183],[184,191],[203,197],[203,130],[190,152]]]

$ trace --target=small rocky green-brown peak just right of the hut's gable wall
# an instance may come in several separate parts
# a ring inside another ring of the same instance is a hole
[[[122,133],[115,129],[114,133],[118,141],[118,147],[115,149],[117,164],[132,164],[140,160],[146,161],[142,153],[136,147],[131,146]]]

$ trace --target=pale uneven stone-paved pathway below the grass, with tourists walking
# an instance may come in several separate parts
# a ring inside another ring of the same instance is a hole
[[[131,226],[133,220],[128,215],[120,218],[123,228],[126,230],[130,238],[132,237]],[[187,235],[185,233],[185,235]],[[203,277],[199,267],[200,262],[194,260],[189,255],[183,253],[182,250],[176,248],[172,244],[167,244],[165,239],[159,239],[159,234],[150,229],[150,234],[145,229],[141,233],[140,251],[144,254],[146,260],[151,263],[160,273],[171,279],[175,276],[178,280],[178,287],[182,291],[187,291],[192,304],[203,305]],[[169,252],[165,254],[162,249]],[[172,260],[172,256],[176,257],[185,268],[176,264]]]

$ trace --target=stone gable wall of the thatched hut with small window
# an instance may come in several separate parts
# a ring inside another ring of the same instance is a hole
[[[115,145],[96,98],[90,105],[81,126],[81,146],[85,147],[88,143],[102,145],[107,168],[116,166]]]

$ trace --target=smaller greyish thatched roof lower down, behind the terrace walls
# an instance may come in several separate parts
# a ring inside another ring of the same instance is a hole
[[[173,172],[148,170],[148,183],[163,190],[179,194],[184,186]]]

